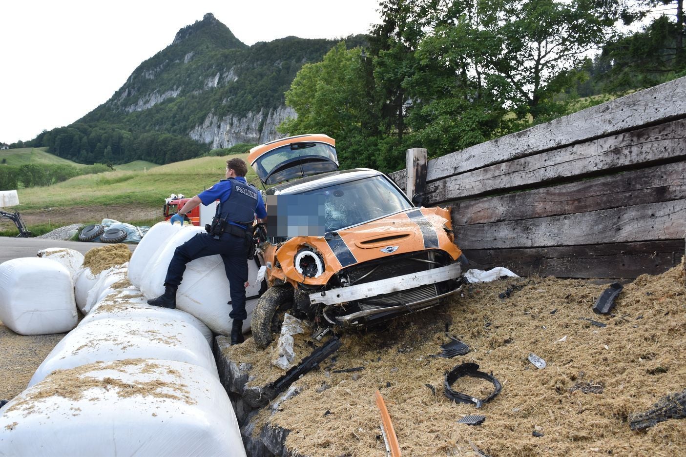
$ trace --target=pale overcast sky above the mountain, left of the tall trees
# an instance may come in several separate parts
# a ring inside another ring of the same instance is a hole
[[[2,0],[0,142],[84,116],[205,13],[253,45],[366,33],[377,9],[378,0]]]

